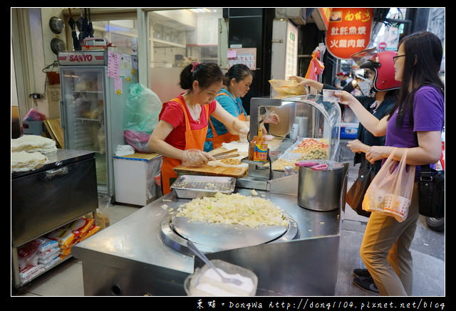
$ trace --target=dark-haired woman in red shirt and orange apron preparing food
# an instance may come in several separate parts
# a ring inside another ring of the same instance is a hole
[[[186,93],[163,103],[159,122],[150,135],[147,147],[162,154],[162,192],[171,191],[177,178],[177,165],[199,167],[214,160],[203,152],[207,120],[212,115],[233,135],[247,137],[249,127],[230,115],[214,100],[222,88],[223,73],[215,63],[193,62],[180,73],[180,87]]]

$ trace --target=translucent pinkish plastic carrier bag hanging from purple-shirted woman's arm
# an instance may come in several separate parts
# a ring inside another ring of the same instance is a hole
[[[412,199],[415,166],[405,164],[407,149],[400,162],[393,160],[398,148],[393,149],[382,168],[375,175],[363,199],[363,210],[377,211],[405,221]]]

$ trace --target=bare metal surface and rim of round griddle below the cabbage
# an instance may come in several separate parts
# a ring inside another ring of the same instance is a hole
[[[289,241],[298,236],[296,221],[284,213],[287,226],[257,226],[189,221],[187,217],[167,215],[160,226],[160,238],[170,248],[186,255],[193,255],[187,248],[192,241],[204,253],[227,251],[234,248],[257,246],[272,241]]]

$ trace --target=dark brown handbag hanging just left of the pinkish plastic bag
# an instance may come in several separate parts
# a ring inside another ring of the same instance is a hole
[[[371,164],[360,168],[358,179],[356,179],[346,194],[346,202],[358,215],[366,217],[371,216],[370,211],[363,210],[363,199],[374,176],[375,172],[373,171]]]

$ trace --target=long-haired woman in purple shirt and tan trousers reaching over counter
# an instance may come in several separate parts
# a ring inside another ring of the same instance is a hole
[[[378,120],[353,95],[336,93],[351,107],[361,124],[375,136],[386,135],[385,146],[371,146],[366,159],[373,163],[387,158],[398,147],[400,161],[408,149],[407,164],[435,164],[440,159],[440,133],[445,125],[444,85],[438,76],[442,43],[423,31],[406,36],[394,57],[395,80],[403,88],[390,115]],[[380,295],[412,295],[413,270],[410,245],[418,221],[418,190],[415,183],[408,217],[403,222],[373,212],[366,226],[360,255]],[[367,280],[368,278],[366,278]]]

